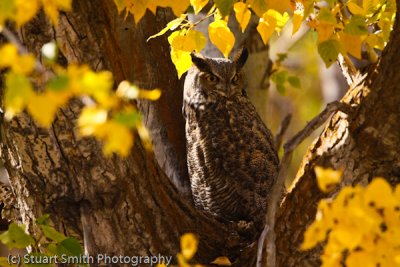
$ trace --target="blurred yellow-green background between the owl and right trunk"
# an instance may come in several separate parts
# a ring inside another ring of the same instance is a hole
[[[265,62],[257,63],[257,53],[251,55],[249,61],[253,63],[247,65],[249,82],[253,84],[249,86],[251,89],[249,96],[271,131],[275,134],[283,118],[289,113],[292,114],[283,143],[303,129],[308,121],[325,108],[327,103],[341,99],[348,89],[337,64],[326,68],[318,55],[316,43],[317,33],[309,30],[305,25],[292,36],[290,22],[279,36],[274,34],[271,37],[269,56],[272,62],[286,57],[280,64],[273,63],[272,73],[287,71],[288,76],[299,79],[300,86],[292,86],[286,82],[284,90],[278,90],[272,81],[269,82],[268,88],[262,86],[260,81],[254,80],[253,74],[257,72],[257,69],[262,68],[261,64],[265,65]],[[321,130],[315,131],[295,150],[286,181],[287,187],[294,180],[307,148],[318,137]],[[282,153],[281,148],[280,156]]]

